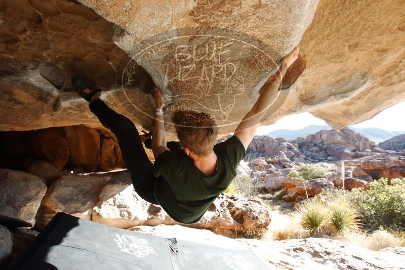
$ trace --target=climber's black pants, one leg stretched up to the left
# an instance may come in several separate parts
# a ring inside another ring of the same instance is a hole
[[[101,124],[115,134],[135,191],[145,201],[159,204],[153,192],[157,179],[152,174],[153,163],[146,155],[134,123],[124,115],[114,112],[101,100],[91,102],[89,108]],[[167,146],[172,151],[181,148],[178,142],[168,142]]]

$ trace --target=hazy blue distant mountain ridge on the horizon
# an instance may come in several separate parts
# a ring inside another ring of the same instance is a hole
[[[377,127],[365,127],[365,128],[355,128],[349,126],[350,129],[352,129],[356,133],[360,133],[362,136],[368,138],[370,141],[373,141],[375,143],[380,143],[385,140],[391,139],[394,136],[397,136],[399,134],[405,133],[404,131],[388,131],[385,129],[377,128]],[[271,131],[268,133],[268,136],[278,138],[286,138],[288,140],[294,140],[297,139],[298,137],[305,138],[309,134],[313,134],[315,132],[318,132],[319,130],[322,129],[332,129],[331,126],[329,125],[309,125],[307,127],[293,130],[293,129],[277,129],[274,131]]]

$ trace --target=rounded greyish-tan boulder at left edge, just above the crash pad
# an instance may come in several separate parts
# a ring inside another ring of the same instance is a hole
[[[35,214],[47,186],[35,175],[0,169],[0,214],[35,224]]]

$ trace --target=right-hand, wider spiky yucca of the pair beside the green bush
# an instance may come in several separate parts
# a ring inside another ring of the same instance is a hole
[[[360,220],[356,210],[345,201],[338,201],[328,205],[322,231],[331,236],[344,236],[359,232]]]

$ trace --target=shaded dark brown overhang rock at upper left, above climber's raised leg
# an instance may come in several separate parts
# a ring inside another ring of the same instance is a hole
[[[87,102],[69,93],[74,91],[70,79],[79,74],[94,78],[99,87],[112,85],[114,67],[127,57],[112,41],[113,23],[73,1],[16,0],[2,5],[5,34],[0,36],[13,46],[1,49],[0,70],[7,72],[0,78],[0,130],[84,122],[101,126]]]

